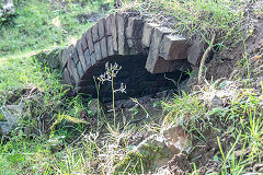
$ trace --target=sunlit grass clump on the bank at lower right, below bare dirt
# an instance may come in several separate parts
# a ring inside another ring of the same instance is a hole
[[[259,94],[252,89],[238,90],[235,84],[224,84],[202,85],[194,94],[183,93],[172,102],[162,102],[167,112],[163,125],[180,122],[194,140],[204,143],[214,140],[220,150],[220,160],[217,160],[221,162],[220,173],[244,174],[249,167],[262,162],[263,91]],[[209,107],[215,95],[226,106]],[[227,142],[224,136],[227,136]],[[238,151],[242,154],[237,156]]]

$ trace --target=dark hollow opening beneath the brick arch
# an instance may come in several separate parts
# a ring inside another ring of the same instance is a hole
[[[184,72],[175,70],[169,73],[151,74],[145,68],[147,55],[134,56],[113,56],[102,60],[89,69],[79,84],[79,92],[83,96],[91,95],[98,97],[98,86],[94,80],[105,72],[105,63],[117,63],[122,66],[116,78],[114,78],[114,89],[119,89],[121,84],[126,85],[126,93],[117,92],[115,100],[124,100],[129,97],[141,97],[145,95],[155,95],[158,92],[167,90],[175,90],[178,84],[187,79]],[[105,82],[100,85],[100,100],[110,102],[112,100],[111,82]]]

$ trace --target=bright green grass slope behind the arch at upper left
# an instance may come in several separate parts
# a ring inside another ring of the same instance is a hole
[[[100,12],[102,0],[68,3],[64,8],[48,0],[20,1],[15,16],[0,24],[0,58],[38,50],[52,46],[69,45],[78,39],[92,22],[80,23],[78,15]]]

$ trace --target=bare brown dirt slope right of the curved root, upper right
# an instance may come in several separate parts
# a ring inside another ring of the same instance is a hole
[[[263,12],[260,12],[258,14],[253,12],[262,4],[263,1],[258,1],[253,5],[248,7],[248,9],[245,10],[247,20],[245,24],[243,25],[243,30],[248,31],[247,36],[243,36],[243,38],[241,38],[241,40],[237,45],[231,45],[231,47],[215,54],[214,59],[208,65],[208,69],[206,72],[207,80],[231,78],[233,73],[237,75],[237,71],[241,74],[240,78],[243,79],[244,77],[242,74],[248,74],[248,70],[245,69],[240,72],[240,67],[243,66],[244,68],[247,68],[244,60],[247,58],[250,60],[263,59]],[[249,28],[252,28],[253,31],[249,31]],[[231,40],[229,40],[229,43],[231,43]],[[251,71],[253,70],[254,69],[252,68]]]

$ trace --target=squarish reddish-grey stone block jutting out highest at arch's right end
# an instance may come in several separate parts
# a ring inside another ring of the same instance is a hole
[[[180,35],[164,35],[159,56],[164,60],[186,59],[186,39]]]

